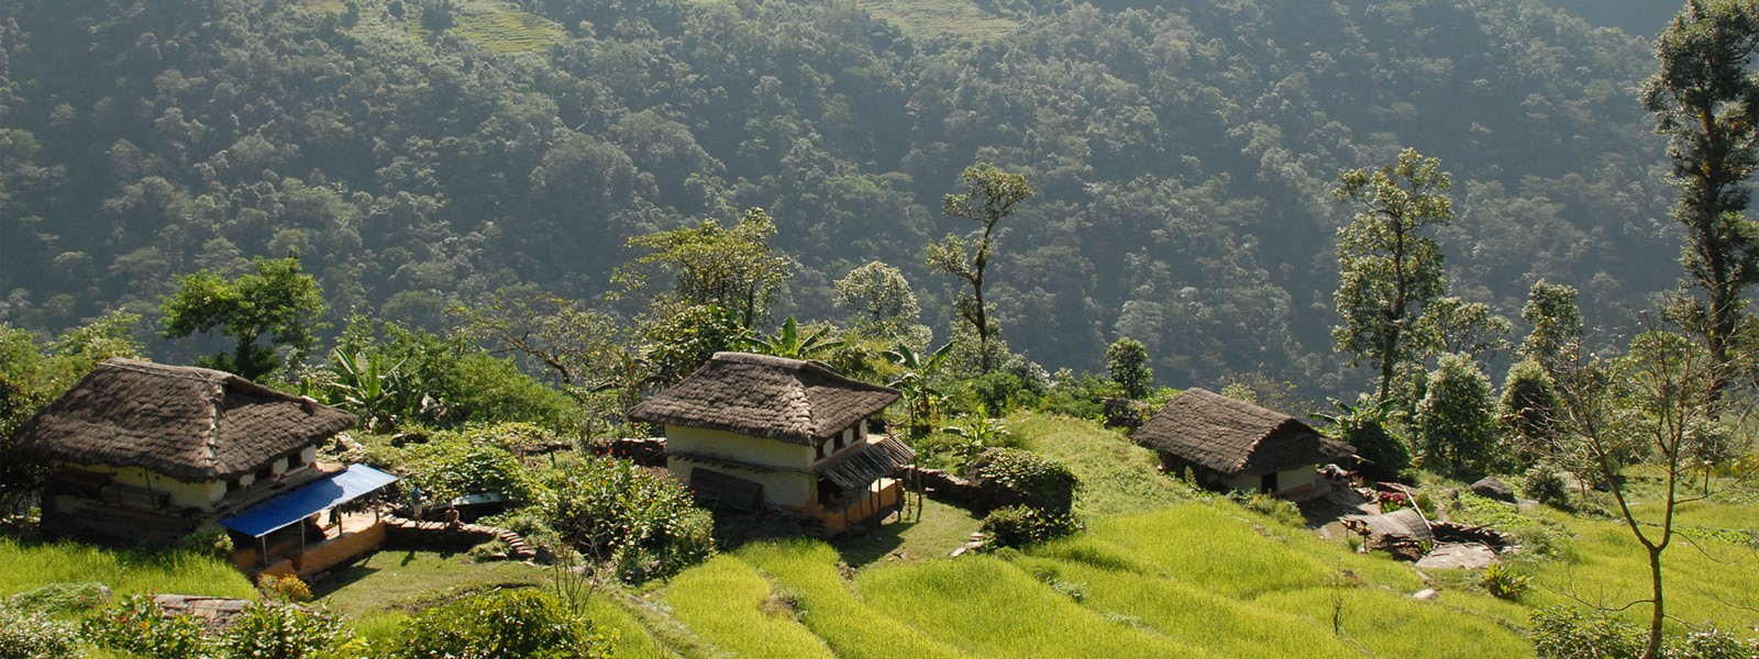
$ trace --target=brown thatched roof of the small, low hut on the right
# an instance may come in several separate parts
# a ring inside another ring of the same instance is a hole
[[[1356,452],[1295,416],[1201,388],[1179,394],[1131,438],[1223,474],[1266,474]]]

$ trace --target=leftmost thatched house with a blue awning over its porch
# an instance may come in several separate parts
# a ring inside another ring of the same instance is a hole
[[[49,462],[51,534],[169,545],[218,524],[260,547],[248,564],[274,554],[264,536],[292,527],[303,550],[299,522],[396,480],[318,466],[318,446],[354,422],[230,373],[113,358],[28,420],[18,446]]]

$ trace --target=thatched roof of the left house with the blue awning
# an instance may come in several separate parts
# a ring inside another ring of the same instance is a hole
[[[257,471],[350,425],[350,413],[230,373],[113,358],[26,422],[18,446],[208,482]]]

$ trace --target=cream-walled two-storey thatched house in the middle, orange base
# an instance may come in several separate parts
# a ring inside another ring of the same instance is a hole
[[[792,510],[834,534],[902,501],[887,476],[916,453],[869,424],[897,397],[811,362],[721,351],[630,416],[665,425],[667,467],[698,501]]]

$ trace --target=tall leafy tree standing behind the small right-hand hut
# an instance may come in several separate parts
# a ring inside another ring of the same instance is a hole
[[[1360,211],[1337,230],[1335,301],[1344,325],[1332,337],[1353,366],[1376,362],[1386,401],[1398,364],[1423,353],[1412,334],[1425,304],[1446,288],[1441,248],[1423,230],[1453,220],[1451,181],[1441,160],[1404,149],[1397,163],[1344,170],[1339,183],[1335,197]]]

